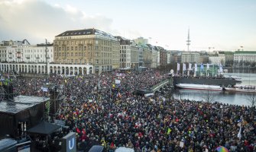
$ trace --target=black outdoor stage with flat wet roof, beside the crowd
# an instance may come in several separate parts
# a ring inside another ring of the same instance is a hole
[[[47,97],[18,96],[0,101],[0,137],[20,138],[44,118]]]

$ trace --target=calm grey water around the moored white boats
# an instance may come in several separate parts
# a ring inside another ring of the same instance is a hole
[[[228,69],[230,73],[225,73],[225,75],[232,75],[241,78],[241,83],[239,85],[254,85],[256,86],[256,70],[250,69]],[[202,90],[183,90],[177,89],[173,93],[173,97],[176,99],[183,100],[197,100],[204,101],[203,97],[207,96],[208,91]],[[209,94],[209,93],[208,93]],[[228,91],[210,91],[210,95],[214,96],[214,100],[220,103],[228,103],[235,105],[249,105],[248,97],[251,93],[234,93]]]

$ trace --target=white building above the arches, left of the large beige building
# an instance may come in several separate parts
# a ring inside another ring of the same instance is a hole
[[[0,62],[53,62],[52,44],[47,44],[46,48],[45,44],[30,45],[27,40],[4,42],[0,46]]]

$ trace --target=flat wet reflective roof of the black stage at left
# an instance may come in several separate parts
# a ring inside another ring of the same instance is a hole
[[[3,100],[0,101],[0,113],[5,112],[15,114],[47,100],[49,100],[47,97],[33,96],[18,96],[15,97],[13,101]]]

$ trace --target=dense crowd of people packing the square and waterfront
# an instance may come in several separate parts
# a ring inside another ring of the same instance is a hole
[[[77,149],[100,144],[106,151],[129,147],[135,151],[256,151],[256,111],[248,106],[179,100],[170,94],[149,97],[136,90],[169,78],[147,70],[120,74],[49,78],[16,78],[15,92],[46,96],[45,84],[63,85],[65,99],[55,119],[76,132]],[[118,80],[118,81],[116,81]],[[66,131],[63,131],[63,134]]]

